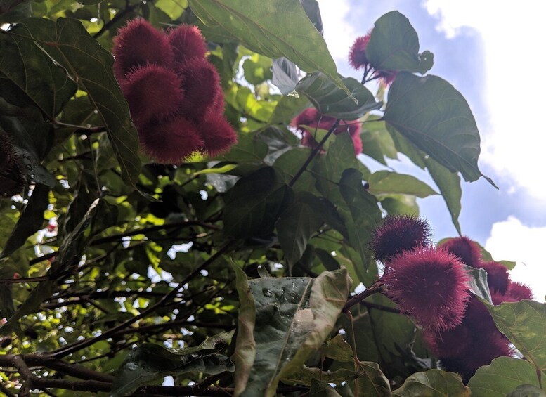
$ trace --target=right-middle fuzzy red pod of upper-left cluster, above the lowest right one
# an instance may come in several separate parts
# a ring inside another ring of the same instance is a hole
[[[192,58],[182,65],[180,73],[185,96],[181,106],[183,115],[199,123],[220,104],[223,107],[220,77],[212,63],[204,58]]]

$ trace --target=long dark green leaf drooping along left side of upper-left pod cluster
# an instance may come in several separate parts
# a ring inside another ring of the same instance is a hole
[[[107,129],[122,169],[122,178],[134,186],[141,172],[138,134],[113,74],[112,54],[89,35],[81,22],[74,19],[58,18],[54,22],[28,18],[21,24],[27,32],[19,34],[36,41],[87,92]]]

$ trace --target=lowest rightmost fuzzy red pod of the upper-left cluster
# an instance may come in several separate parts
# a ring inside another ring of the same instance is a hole
[[[199,124],[203,150],[210,157],[228,151],[237,143],[237,133],[221,115],[210,115]]]

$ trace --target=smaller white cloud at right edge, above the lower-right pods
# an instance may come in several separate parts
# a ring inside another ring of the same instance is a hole
[[[515,261],[510,271],[512,280],[523,282],[533,289],[535,299],[546,295],[546,257],[544,246],[546,227],[530,228],[509,216],[506,221],[493,223],[486,249],[495,261]]]

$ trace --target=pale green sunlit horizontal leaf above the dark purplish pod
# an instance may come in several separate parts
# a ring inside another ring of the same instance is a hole
[[[420,181],[415,176],[391,171],[374,172],[368,177],[368,183],[370,183],[368,192],[373,195],[402,193],[424,198],[438,194],[427,183]]]

